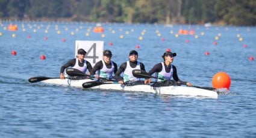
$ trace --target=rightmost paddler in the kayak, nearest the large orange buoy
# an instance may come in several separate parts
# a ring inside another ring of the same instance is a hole
[[[193,86],[190,82],[183,82],[179,79],[177,74],[177,69],[174,65],[172,65],[173,59],[176,56],[176,53],[172,52],[164,52],[162,58],[164,59],[164,62],[160,62],[156,64],[149,72],[148,74],[152,75],[155,73],[155,77],[166,79],[167,81],[158,79],[155,85],[161,85],[161,86],[168,86],[168,85],[180,85],[180,84],[186,84],[187,86]],[[173,81],[172,80],[175,80]],[[149,84],[151,82],[150,79],[145,80],[145,84]]]

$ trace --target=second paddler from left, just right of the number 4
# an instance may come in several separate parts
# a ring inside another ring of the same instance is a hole
[[[112,53],[110,50],[104,50],[103,59],[92,68],[91,75],[98,79],[113,79],[113,73],[117,71],[117,64],[111,61]],[[96,71],[98,71],[97,74]]]

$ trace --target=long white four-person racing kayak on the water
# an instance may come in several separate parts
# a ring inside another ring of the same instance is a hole
[[[52,85],[63,85],[63,86],[73,86],[78,88],[83,88],[84,82],[91,82],[91,79],[83,80],[70,80],[70,79],[48,79],[41,82],[48,83]],[[89,89],[99,89],[99,90],[117,90],[117,91],[134,91],[134,92],[148,92],[153,94],[166,94],[166,95],[189,95],[196,97],[208,97],[217,98],[217,92],[210,91],[207,89],[200,89],[187,86],[161,86],[152,87],[150,85],[135,85],[135,86],[125,86],[120,84],[103,84],[99,86],[94,86]]]

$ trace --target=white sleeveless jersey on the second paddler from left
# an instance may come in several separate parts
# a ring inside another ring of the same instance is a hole
[[[98,71],[98,76],[107,78],[107,79],[112,79],[113,77],[113,72],[114,72],[114,63],[111,61],[111,68],[107,68],[104,60],[102,60],[103,67],[101,70]]]

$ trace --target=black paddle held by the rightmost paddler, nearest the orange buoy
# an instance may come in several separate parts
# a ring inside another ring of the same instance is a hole
[[[133,70],[133,76],[134,77],[139,77],[139,78],[161,79],[161,78],[158,78],[158,77],[151,76],[150,74],[146,73],[146,71],[144,71],[144,70]],[[161,80],[166,80],[166,79],[161,79]],[[186,84],[181,83],[181,85],[186,85]],[[201,86],[192,86],[192,87],[200,88],[200,89],[208,89],[208,90],[214,90],[215,89],[215,88],[212,88],[212,87],[201,87]]]

